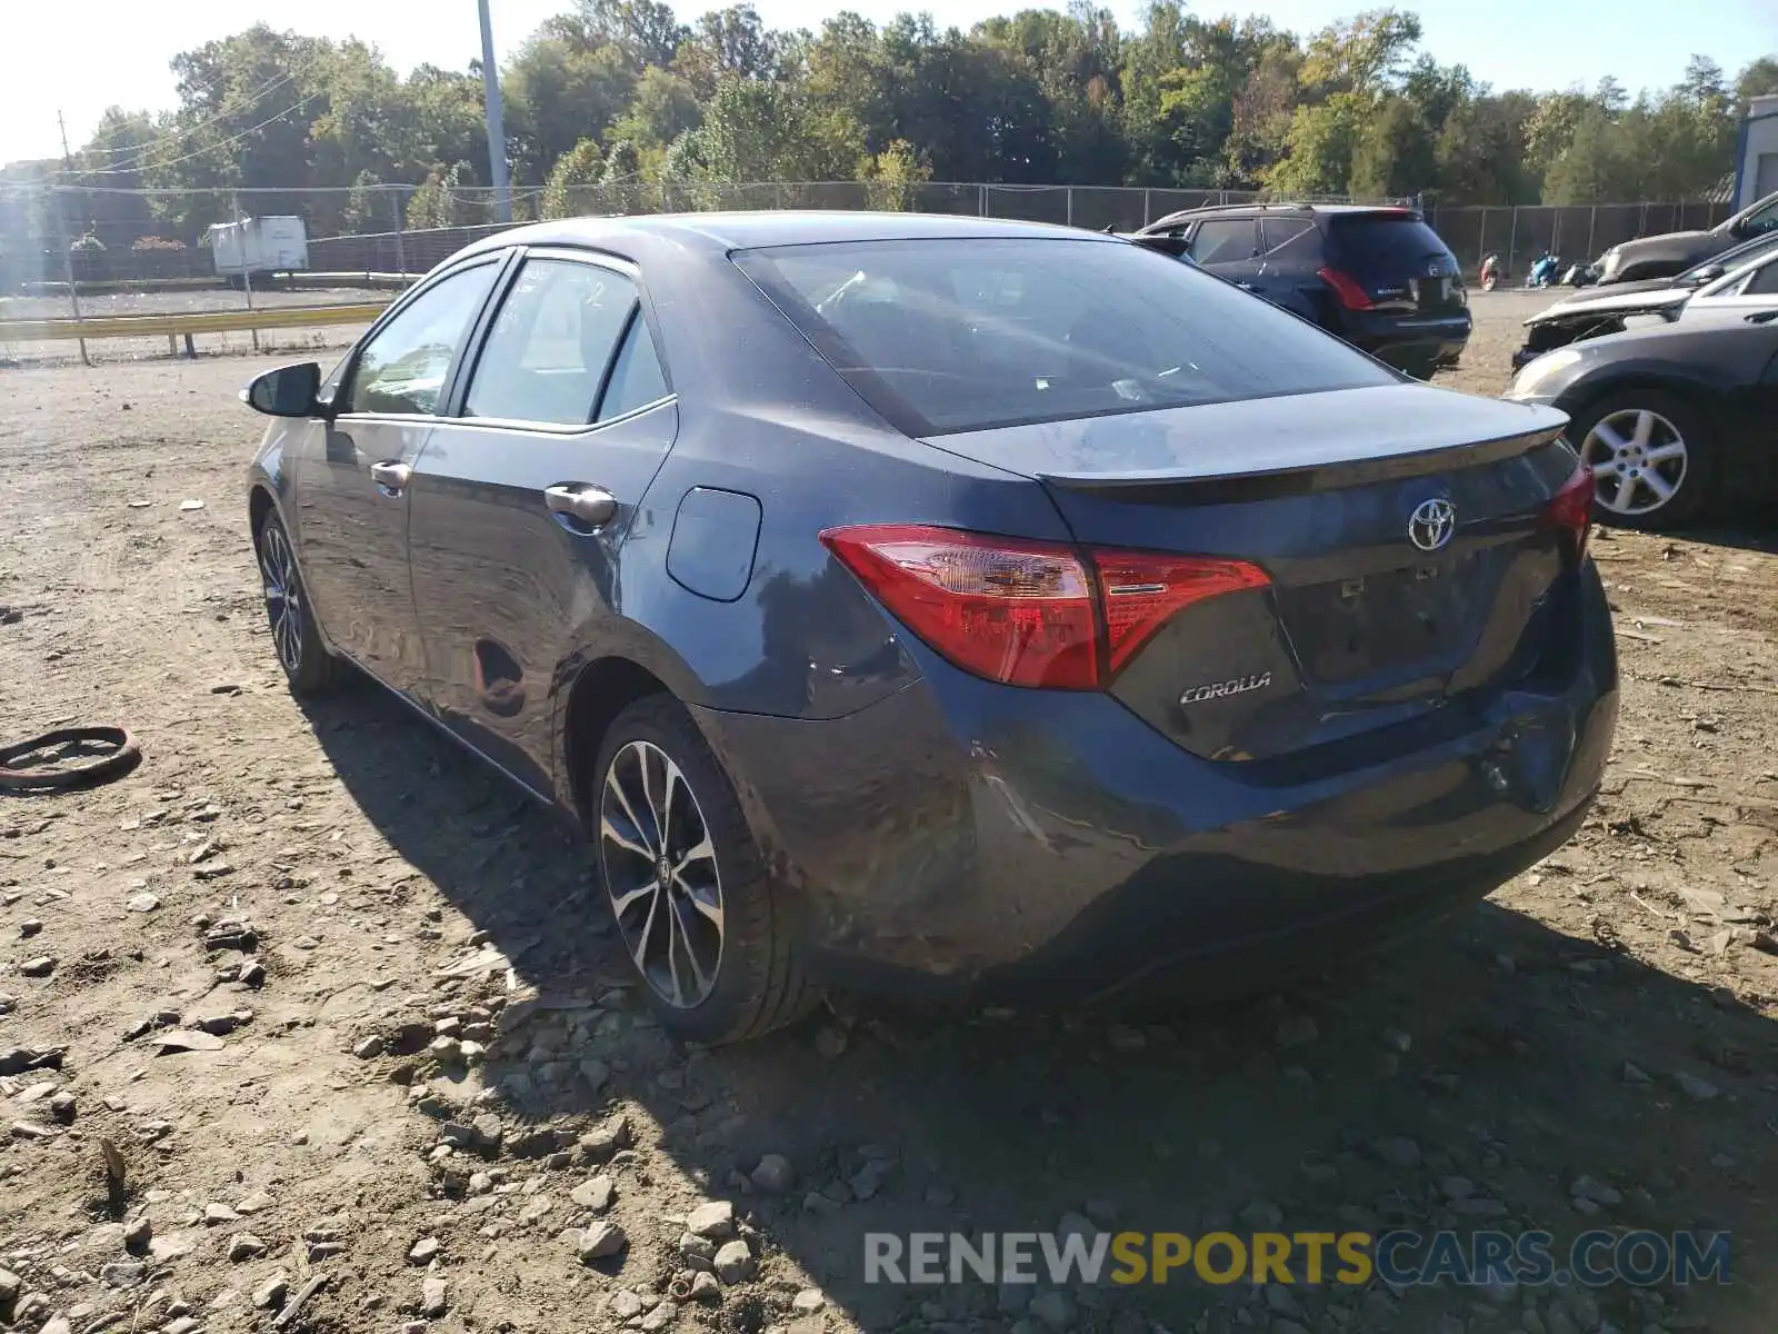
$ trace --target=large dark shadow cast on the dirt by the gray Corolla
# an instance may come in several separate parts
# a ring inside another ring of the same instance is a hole
[[[1540,1323],[1526,1322],[1526,1293],[1298,1288],[1268,1300],[1248,1284],[1175,1277],[1106,1290],[1097,1307],[1088,1295],[1077,1327],[1109,1329],[1118,1311],[1140,1309],[1173,1330],[1296,1322],[1269,1327],[1561,1334],[1600,1320],[1623,1332],[1702,1329],[1684,1323],[1702,1318],[1769,1329],[1762,1256],[1778,1236],[1762,1192],[1778,1121],[1762,1124],[1773,1110],[1762,1081],[1771,1087],[1773,1025],[1609,944],[1485,904],[1289,998],[1143,1028],[868,1009],[685,1053],[638,1023],[635,996],[608,1000],[624,1017],[592,1016],[585,1030],[567,1025],[573,1009],[549,1009],[558,996],[587,1007],[629,982],[569,831],[375,690],[329,701],[311,720],[395,850],[544,992],[516,1049],[491,1053],[485,1081],[535,1124],[585,1126],[613,1097],[640,1106],[660,1126],[660,1151],[708,1193],[754,1209],[770,1245],[866,1329],[1012,1320],[983,1284],[864,1284],[866,1231],[1047,1231],[1088,1202],[1140,1231],[1543,1227],[1558,1258],[1597,1226],[1728,1229],[1737,1268],[1726,1290],[1543,1290]],[[832,1055],[818,1028],[843,1032],[846,1049]],[[576,1074],[589,1057],[613,1071],[599,1092]],[[1716,1096],[1687,1094],[1693,1076]],[[743,1195],[763,1153],[797,1167],[791,1193]],[[868,1201],[809,1206],[809,1192],[845,1197],[852,1186],[836,1183],[862,1183],[873,1158],[893,1169]],[[1581,1176],[1616,1202],[1577,1209]],[[622,1274],[647,1282],[663,1263],[633,1245]],[[720,1320],[754,1329],[765,1316],[731,1304]]]

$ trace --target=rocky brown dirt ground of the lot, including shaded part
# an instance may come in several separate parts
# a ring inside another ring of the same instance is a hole
[[[1536,302],[1478,297],[1454,382],[1497,393]],[[92,792],[0,797],[0,1327],[1778,1327],[1773,516],[1598,535],[1623,667],[1604,797],[1412,950],[1140,1028],[839,1003],[683,1051],[573,838],[379,692],[286,694],[235,400],[263,365],[0,370],[0,738],[119,722],[144,752]],[[733,1224],[688,1218],[724,1201]],[[862,1281],[868,1231],[1083,1213],[1726,1229],[1732,1282]],[[583,1263],[601,1222],[628,1249]],[[727,1277],[688,1291],[729,1227]]]

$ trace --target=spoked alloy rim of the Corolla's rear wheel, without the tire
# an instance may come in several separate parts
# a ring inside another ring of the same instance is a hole
[[[667,1005],[702,1005],[722,968],[722,873],[697,793],[651,742],[626,743],[605,770],[599,859],[637,971]]]

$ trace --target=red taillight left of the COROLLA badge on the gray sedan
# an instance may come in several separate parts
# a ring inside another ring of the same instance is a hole
[[[1243,560],[1076,551],[923,525],[830,528],[821,542],[955,665],[1049,690],[1097,690],[1179,610],[1268,582]]]

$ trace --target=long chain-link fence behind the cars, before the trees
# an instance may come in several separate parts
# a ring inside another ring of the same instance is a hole
[[[238,304],[363,301],[503,226],[539,217],[658,212],[832,208],[909,210],[1133,231],[1168,213],[1248,203],[1239,190],[958,181],[621,181],[565,190],[517,189],[501,222],[489,189],[366,185],[357,189],[117,190],[84,185],[0,187],[0,318],[75,313],[215,309]],[[1591,260],[1662,231],[1709,228],[1726,203],[1598,206],[1428,206],[1426,217],[1465,269],[1499,254],[1522,274],[1543,251]],[[244,217],[297,215],[308,263],[295,272],[228,279],[210,228]]]

